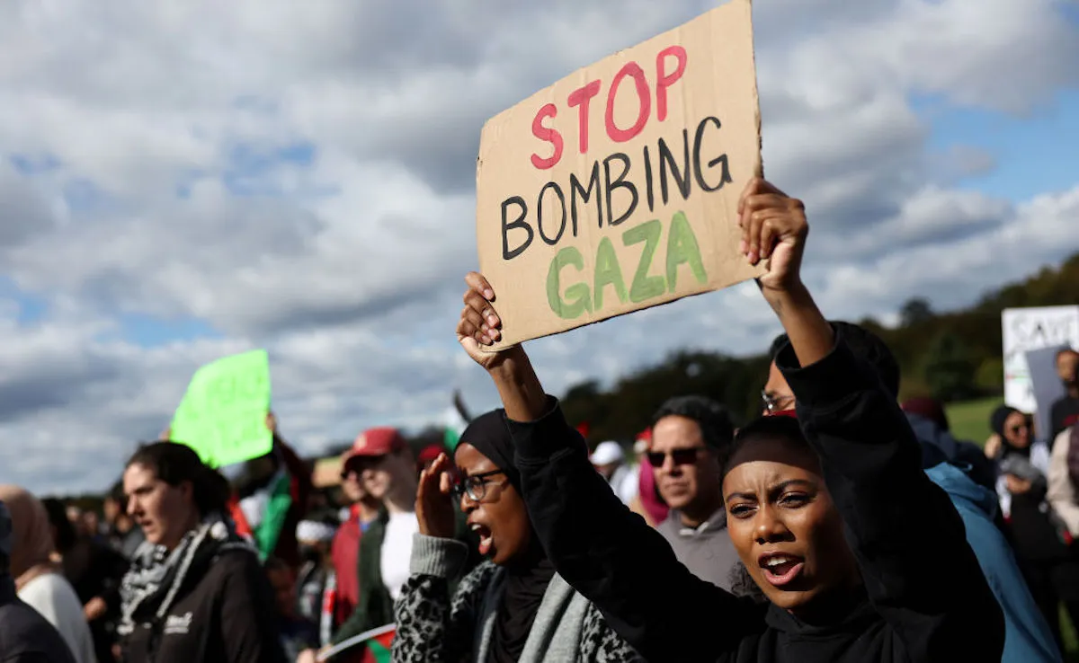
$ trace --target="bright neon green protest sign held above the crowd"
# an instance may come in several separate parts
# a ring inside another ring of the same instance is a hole
[[[265,350],[218,359],[199,369],[176,409],[169,437],[210,467],[270,453],[270,360]]]

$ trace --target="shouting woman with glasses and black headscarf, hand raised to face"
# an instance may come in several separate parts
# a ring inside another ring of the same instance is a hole
[[[532,530],[505,414],[469,424],[454,451],[420,476],[411,576],[396,604],[396,662],[540,663],[641,660],[555,571]],[[454,505],[488,561],[461,580]]]

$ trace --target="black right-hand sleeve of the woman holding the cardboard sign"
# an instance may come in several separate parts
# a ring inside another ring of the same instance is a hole
[[[921,470],[914,433],[872,369],[837,335],[823,359],[776,359],[820,456],[876,611],[914,661],[999,661],[1003,616],[947,495]]]

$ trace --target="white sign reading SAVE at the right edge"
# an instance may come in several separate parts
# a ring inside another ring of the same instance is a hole
[[[1034,412],[1038,408],[1026,353],[1066,345],[1079,348],[1079,306],[1006,308],[1000,314],[1005,353],[1005,402]]]

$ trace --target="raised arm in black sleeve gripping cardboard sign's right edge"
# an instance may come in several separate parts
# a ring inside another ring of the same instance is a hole
[[[959,514],[921,470],[917,440],[894,397],[801,281],[808,234],[801,203],[756,181],[742,211],[749,253],[766,247],[756,257],[771,260],[761,290],[791,341],[776,363],[820,457],[870,600],[913,660],[951,660],[961,644],[970,660],[999,661],[1003,617]]]

